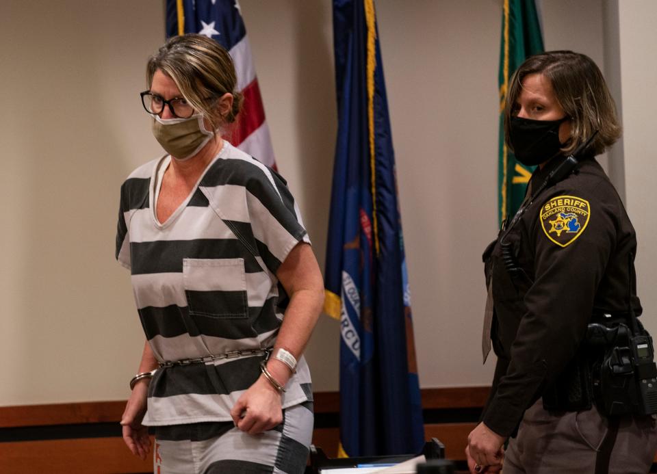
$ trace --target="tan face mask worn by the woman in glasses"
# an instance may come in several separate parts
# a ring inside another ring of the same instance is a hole
[[[214,133],[205,129],[201,114],[190,118],[159,118],[157,115],[153,118],[155,140],[179,161],[196,155],[214,136]]]

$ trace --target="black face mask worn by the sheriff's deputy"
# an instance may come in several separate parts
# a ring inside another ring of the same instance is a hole
[[[525,166],[537,166],[561,153],[559,125],[568,117],[559,120],[530,120],[511,117],[509,138],[515,159]]]

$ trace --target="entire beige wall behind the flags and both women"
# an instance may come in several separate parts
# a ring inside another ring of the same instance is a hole
[[[240,4],[276,160],[323,265],[336,131],[331,2]],[[655,107],[646,96],[655,74],[635,48],[656,44],[642,20],[655,17],[654,3],[621,4],[628,208],[639,277],[652,278],[653,200],[636,189],[651,189]],[[604,67],[602,5],[543,2],[546,47],[582,51]],[[500,6],[376,2],[424,387],[491,378],[491,361],[480,363],[480,253],[496,231]],[[630,35],[634,16],[642,21]],[[138,92],[163,23],[161,0],[0,2],[0,405],[128,395],[143,336],[129,276],[113,258],[118,188],[159,153]],[[648,280],[640,288],[651,315]],[[337,321],[323,316],[307,350],[315,389],[337,389],[338,343]]]

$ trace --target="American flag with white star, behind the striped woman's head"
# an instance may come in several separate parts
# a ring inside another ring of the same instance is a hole
[[[242,112],[232,128],[233,145],[276,168],[251,48],[237,0],[167,0],[166,34],[198,33],[229,51],[237,71],[237,89],[244,94]]]

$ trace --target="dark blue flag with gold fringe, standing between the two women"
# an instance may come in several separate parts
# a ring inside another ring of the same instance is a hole
[[[409,283],[373,0],[334,0],[338,133],[327,314],[341,322],[342,456],[424,443]]]

